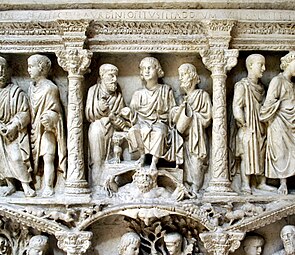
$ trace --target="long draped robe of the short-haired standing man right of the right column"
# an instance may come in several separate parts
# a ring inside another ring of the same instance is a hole
[[[265,125],[259,120],[259,111],[264,99],[264,88],[244,78],[235,85],[233,112],[241,109],[245,126],[236,136],[236,156],[242,157],[246,175],[262,175],[265,157]],[[235,116],[237,118],[237,116]]]

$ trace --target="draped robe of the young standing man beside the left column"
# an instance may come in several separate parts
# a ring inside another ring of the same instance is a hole
[[[29,87],[29,100],[32,118],[31,143],[34,171],[39,168],[39,157],[46,153],[58,154],[58,169],[66,173],[66,134],[63,124],[59,90],[50,80],[43,79]],[[41,123],[43,114],[50,118],[52,130],[45,130]]]

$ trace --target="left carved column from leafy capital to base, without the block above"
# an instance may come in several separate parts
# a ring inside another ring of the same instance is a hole
[[[68,72],[68,171],[65,192],[88,193],[83,155],[83,74],[87,72],[92,52],[70,48],[56,53],[59,65]]]

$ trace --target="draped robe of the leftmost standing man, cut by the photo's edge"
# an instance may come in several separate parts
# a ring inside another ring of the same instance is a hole
[[[15,178],[21,182],[31,181],[30,144],[27,125],[30,123],[28,100],[16,85],[0,89],[0,123],[17,126],[15,140],[0,135],[0,178]]]

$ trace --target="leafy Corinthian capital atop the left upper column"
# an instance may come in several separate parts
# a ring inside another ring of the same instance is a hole
[[[58,64],[69,75],[83,75],[89,71],[92,52],[86,49],[68,48],[56,52]]]

